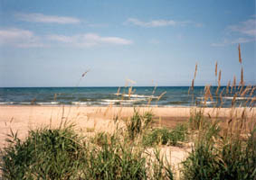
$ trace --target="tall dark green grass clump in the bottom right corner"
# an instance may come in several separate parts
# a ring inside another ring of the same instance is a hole
[[[210,136],[202,135],[196,141],[192,153],[185,160],[185,179],[255,179],[255,127],[246,140],[239,137],[219,137],[216,141],[207,137]]]

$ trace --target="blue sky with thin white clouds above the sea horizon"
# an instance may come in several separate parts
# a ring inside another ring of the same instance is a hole
[[[0,86],[256,84],[255,0],[0,0]],[[242,65],[238,44],[241,44]],[[90,70],[86,76],[81,75]]]

